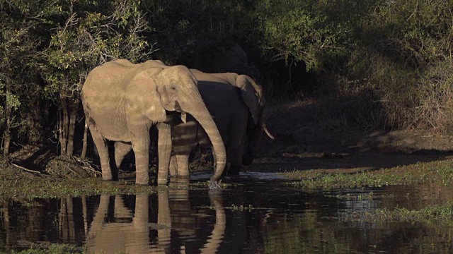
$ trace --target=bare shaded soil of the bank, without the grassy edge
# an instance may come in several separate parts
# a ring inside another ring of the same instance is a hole
[[[449,135],[435,130],[384,132],[353,128],[311,99],[269,104],[265,117],[275,140],[263,140],[258,157],[245,171],[363,171],[453,158],[453,138]],[[210,160],[209,155],[197,157],[191,168]],[[61,159],[45,147],[25,145],[11,158],[15,164],[37,171],[62,168],[57,163]],[[98,162],[93,161],[93,168],[98,169]],[[86,167],[86,162],[79,164]]]

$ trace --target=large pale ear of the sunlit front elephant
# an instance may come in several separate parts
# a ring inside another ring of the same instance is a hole
[[[126,90],[126,103],[133,111],[132,114],[141,114],[154,122],[166,120],[166,111],[161,102],[161,95],[157,90],[156,73],[161,68],[148,68],[134,75]]]

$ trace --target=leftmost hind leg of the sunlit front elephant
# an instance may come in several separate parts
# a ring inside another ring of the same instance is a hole
[[[96,128],[96,125],[88,123],[88,127],[90,128],[94,145],[96,145],[96,150],[98,150],[99,159],[101,160],[102,179],[117,180],[117,176],[114,177],[115,174],[112,174],[112,169],[110,168],[110,158],[108,156],[107,140],[105,140],[105,138],[103,138],[101,134],[98,132],[98,128]]]

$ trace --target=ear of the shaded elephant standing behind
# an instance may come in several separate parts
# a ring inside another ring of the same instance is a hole
[[[241,89],[243,102],[246,103],[255,124],[260,121],[261,110],[264,107],[263,87],[248,75],[239,75],[236,78],[236,86]]]

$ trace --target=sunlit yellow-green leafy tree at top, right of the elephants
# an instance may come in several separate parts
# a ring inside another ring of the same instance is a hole
[[[352,1],[353,2],[353,1]],[[330,71],[347,53],[351,25],[329,12],[330,1],[257,1],[253,31],[270,61],[304,61],[306,68]],[[337,14],[338,15],[338,14]]]

